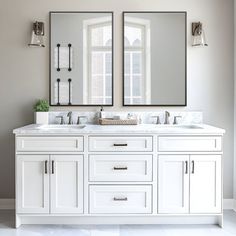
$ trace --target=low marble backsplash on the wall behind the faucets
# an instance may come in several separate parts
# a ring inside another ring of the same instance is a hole
[[[49,124],[59,124],[60,119],[57,116],[63,116],[65,124],[68,124],[68,112],[49,112]],[[164,112],[76,112],[72,113],[73,124],[76,124],[78,117],[80,118],[81,124],[97,124],[98,117],[101,115],[102,118],[114,118],[120,117],[120,119],[127,119],[127,117],[135,117],[138,119],[140,124],[155,124],[156,118],[153,116],[159,116],[160,122],[164,123]],[[188,112],[170,112],[170,124],[173,123],[175,116],[181,116],[178,118],[179,124],[201,124],[203,123],[202,112],[188,111]]]

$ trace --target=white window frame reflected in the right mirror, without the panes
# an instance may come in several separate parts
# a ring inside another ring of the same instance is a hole
[[[134,46],[124,46],[124,55],[126,51],[133,51],[135,49],[142,50],[143,56],[142,56],[142,71],[143,71],[143,91],[142,94],[144,95],[144,104],[150,104],[151,103],[151,51],[150,51],[150,46],[151,46],[151,36],[150,36],[150,20],[146,19],[140,19],[136,17],[125,17],[125,24],[129,26],[136,26],[136,27],[143,27],[142,30],[142,42],[143,46],[135,48]],[[125,35],[124,35],[125,37]],[[125,59],[125,58],[124,58]],[[131,74],[132,75],[132,74]],[[129,98],[132,100],[135,98],[135,96],[132,95],[132,81],[130,82],[130,96]],[[126,97],[125,97],[126,98]]]

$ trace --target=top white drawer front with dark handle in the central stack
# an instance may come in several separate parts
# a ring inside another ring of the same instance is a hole
[[[150,152],[152,151],[152,137],[89,137],[90,152]]]

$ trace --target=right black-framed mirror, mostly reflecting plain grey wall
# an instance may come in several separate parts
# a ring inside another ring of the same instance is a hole
[[[186,12],[123,12],[123,105],[186,106]]]

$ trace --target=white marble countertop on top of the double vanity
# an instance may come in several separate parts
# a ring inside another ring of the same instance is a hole
[[[36,125],[31,124],[14,129],[16,135],[80,135],[80,134],[196,134],[223,135],[224,129],[206,124],[182,125],[93,125],[84,128],[77,125]]]

